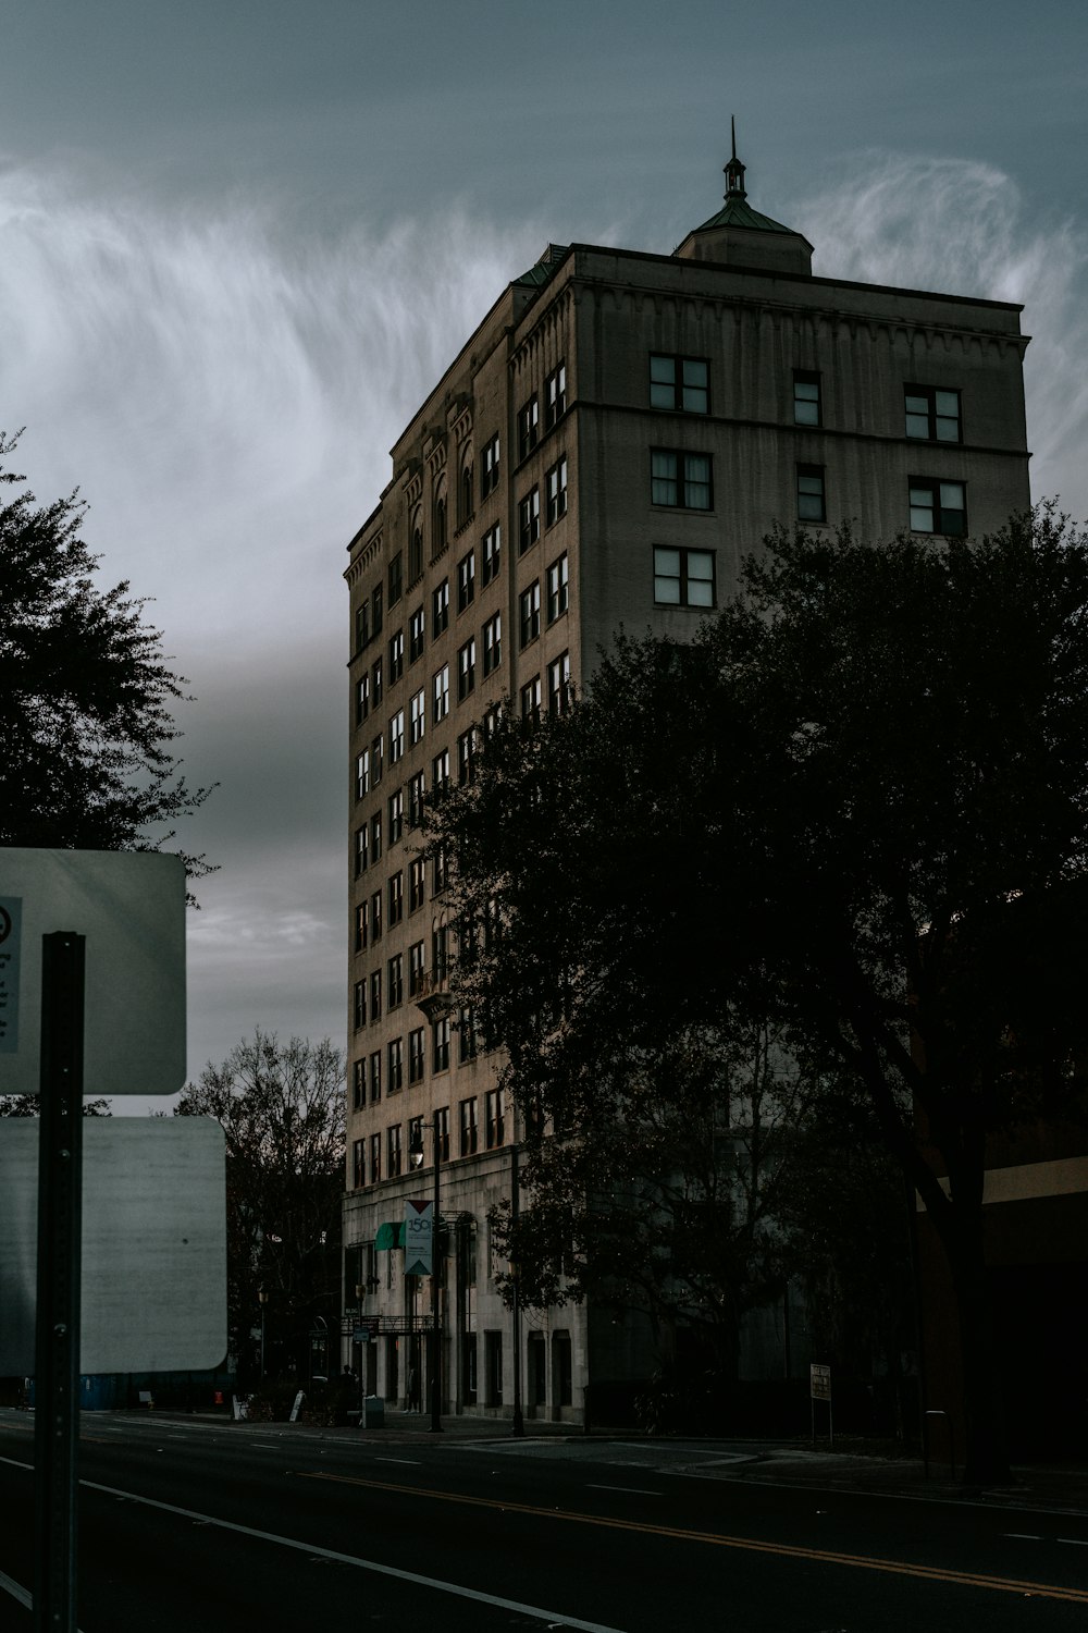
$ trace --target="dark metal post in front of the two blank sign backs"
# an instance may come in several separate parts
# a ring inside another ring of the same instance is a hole
[[[34,1633],[77,1633],[83,977],[83,936],[42,936]]]

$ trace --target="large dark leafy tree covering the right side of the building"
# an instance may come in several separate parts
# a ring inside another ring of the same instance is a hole
[[[1080,1094],[1086,619],[1052,508],[980,541],[780,532],[690,647],[620,640],[432,813],[455,998],[525,1107],[594,1133],[602,1084],[750,1017],[863,1097],[948,1259],[972,1479],[1006,1466],[987,1140]]]

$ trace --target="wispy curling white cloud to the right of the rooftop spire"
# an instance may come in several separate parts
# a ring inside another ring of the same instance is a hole
[[[861,154],[789,214],[814,271],[861,283],[1018,300],[1034,498],[1088,516],[1088,227],[1039,220],[992,165]]]

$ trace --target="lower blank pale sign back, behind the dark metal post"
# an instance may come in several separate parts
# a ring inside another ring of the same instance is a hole
[[[0,1377],[34,1372],[36,1117],[0,1119]],[[83,1119],[80,1372],[219,1367],[227,1156],[214,1117]]]

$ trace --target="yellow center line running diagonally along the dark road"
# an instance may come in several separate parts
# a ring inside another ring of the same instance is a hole
[[[948,1571],[935,1564],[910,1564],[905,1560],[879,1560],[860,1553],[835,1553],[830,1548],[804,1548],[796,1543],[757,1542],[750,1537],[723,1537],[718,1532],[685,1530],[674,1525],[652,1525],[641,1520],[608,1519],[600,1514],[579,1514],[573,1509],[542,1509],[530,1502],[502,1502],[498,1497],[470,1497],[458,1491],[431,1491],[427,1486],[400,1486],[387,1479],[364,1479],[357,1475],[326,1475],[290,1470],[299,1479],[331,1479],[343,1486],[367,1486],[370,1491],[395,1491],[406,1497],[432,1497],[436,1502],[460,1502],[467,1507],[499,1509],[504,1514],[532,1514],[535,1519],[573,1520],[577,1525],[602,1525],[607,1530],[639,1532],[644,1537],[670,1537],[677,1542],[701,1542],[716,1548],[741,1548],[747,1553],[772,1553],[788,1560],[807,1560],[817,1564],[847,1564],[863,1571],[886,1571],[892,1576],[913,1576],[927,1582],[951,1582],[959,1587],[988,1587],[1005,1594],[1037,1595],[1041,1599],[1065,1599],[1075,1605],[1088,1605],[1088,1589],[1057,1587],[1050,1582],[1023,1582],[1010,1576],[982,1576],[974,1571]]]

